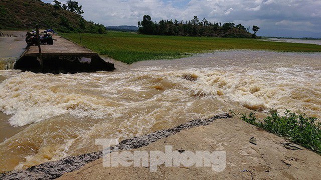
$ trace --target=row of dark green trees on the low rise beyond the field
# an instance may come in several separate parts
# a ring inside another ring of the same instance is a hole
[[[226,22],[210,22],[203,18],[200,20],[197,16],[187,21],[165,20],[159,22],[152,21],[149,15],[144,15],[142,21],[138,21],[138,31],[142,34],[152,35],[182,35],[182,36],[216,36],[216,37],[252,37],[256,38],[256,32],[259,27],[253,25],[250,33],[250,27],[245,28],[242,24]]]

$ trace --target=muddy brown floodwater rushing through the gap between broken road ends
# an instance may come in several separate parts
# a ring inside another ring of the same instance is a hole
[[[0,70],[0,171],[101,150],[95,138],[142,135],[230,109],[321,117],[320,53],[230,50],[115,63],[114,72]]]

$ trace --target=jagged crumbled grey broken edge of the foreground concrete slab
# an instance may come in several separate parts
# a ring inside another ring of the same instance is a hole
[[[181,130],[208,125],[216,119],[230,118],[233,115],[229,113],[222,113],[207,119],[195,119],[184,124],[178,125],[173,128],[157,130],[149,134],[139,137],[132,137],[122,140],[116,147],[118,150],[122,149],[136,149],[146,146],[151,142],[158,139],[168,137],[176,134]],[[114,147],[110,147],[113,151]],[[60,177],[66,172],[72,172],[80,169],[85,164],[101,158],[103,155],[102,150],[97,152],[85,153],[77,156],[68,156],[57,161],[44,162],[40,165],[35,165],[27,168],[26,170],[13,170],[0,174],[0,179],[55,179]]]

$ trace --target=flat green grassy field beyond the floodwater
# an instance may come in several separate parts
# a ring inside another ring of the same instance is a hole
[[[61,33],[80,44],[78,33]],[[142,35],[109,31],[81,34],[82,45],[125,63],[149,59],[173,59],[220,49],[256,49],[282,52],[320,52],[321,45],[261,41],[250,38]]]

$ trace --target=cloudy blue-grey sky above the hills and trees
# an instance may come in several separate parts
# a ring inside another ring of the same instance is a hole
[[[53,0],[43,0],[52,2]],[[63,3],[66,0],[61,0]],[[153,21],[189,20],[257,25],[258,35],[321,37],[321,0],[75,0],[84,18],[108,25],[137,25],[144,14]]]

